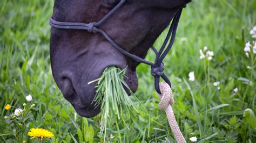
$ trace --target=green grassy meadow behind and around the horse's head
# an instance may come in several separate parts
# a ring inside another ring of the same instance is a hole
[[[48,24],[53,1],[1,0],[0,5],[0,142],[17,138],[35,142],[26,135],[31,127],[51,131],[54,137],[44,140],[49,142],[103,141],[99,118],[78,116],[53,81]],[[187,141],[197,137],[198,142],[256,142],[255,54],[252,47],[248,58],[244,51],[246,42],[252,45],[255,40],[250,35],[255,18],[253,0],[193,0],[184,9],[164,62],[173,85],[174,113]],[[165,34],[156,41],[158,48]],[[212,60],[199,59],[204,46],[213,51]],[[154,60],[152,51],[146,59]],[[194,81],[188,78],[191,71]],[[150,67],[140,65],[137,74],[135,95],[143,106],[135,104],[147,112],[127,119],[127,126],[108,128],[106,140],[174,142],[165,113],[158,109]],[[31,102],[25,99],[29,94]],[[23,108],[23,103],[36,106],[27,118],[18,118],[16,132],[14,122],[4,119],[15,108],[4,108],[6,104]]]

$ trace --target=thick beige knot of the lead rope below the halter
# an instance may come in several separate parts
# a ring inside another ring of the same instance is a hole
[[[174,102],[172,89],[165,82],[159,83],[159,88],[161,91],[161,94],[158,95],[160,98],[159,109],[165,111],[169,104],[172,106]]]

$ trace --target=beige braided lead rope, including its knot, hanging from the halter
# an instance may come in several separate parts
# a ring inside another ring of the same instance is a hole
[[[183,134],[179,129],[179,126],[177,124],[176,118],[172,110],[172,104],[174,102],[172,89],[170,88],[169,84],[165,82],[159,83],[159,88],[162,93],[161,95],[158,94],[158,97],[160,99],[159,109],[165,111],[172,132],[174,134],[174,138],[177,140],[177,142],[186,142],[185,138],[183,137]]]

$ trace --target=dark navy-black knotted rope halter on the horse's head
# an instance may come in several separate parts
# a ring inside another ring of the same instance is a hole
[[[125,0],[121,0],[105,17],[103,17],[101,20],[98,22],[92,22],[92,23],[69,23],[69,22],[57,22],[56,20],[53,20],[50,18],[50,25],[55,28],[61,28],[61,29],[73,29],[73,30],[86,30],[88,32],[93,32],[93,33],[101,33],[115,48],[118,49],[121,53],[124,55],[129,56],[133,60],[136,60],[138,62],[143,62],[146,65],[151,66],[151,75],[154,77],[154,87],[156,88],[156,91],[160,94],[159,90],[159,81],[160,77],[164,79],[164,81],[170,85],[171,87],[171,82],[169,78],[164,74],[164,63],[163,60],[167,53],[170,51],[172,48],[178,23],[179,23],[179,18],[181,15],[182,8],[179,8],[176,14],[173,17],[172,24],[170,26],[169,32],[166,35],[166,38],[164,40],[163,45],[161,46],[159,52],[157,52],[157,49],[154,48],[153,46],[151,47],[154,53],[156,54],[156,60],[153,62],[146,61],[142,58],[140,58],[137,55],[131,54],[127,51],[125,51],[122,47],[120,47],[104,30],[100,29],[98,26],[102,25],[107,18],[109,18],[111,15],[113,15],[114,12],[116,12],[120,6],[124,4]],[[167,42],[169,41],[171,37],[171,40],[169,44],[167,45]],[[167,47],[166,47],[167,45]],[[165,49],[166,47],[166,49]],[[164,51],[165,49],[165,51]]]

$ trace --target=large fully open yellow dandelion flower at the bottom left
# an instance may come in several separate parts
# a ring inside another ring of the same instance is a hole
[[[42,140],[43,138],[52,138],[54,134],[43,128],[30,128],[28,135],[32,137],[31,139],[41,137]]]

